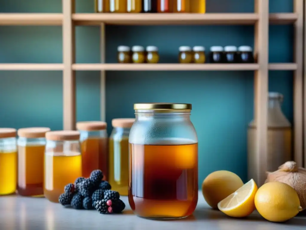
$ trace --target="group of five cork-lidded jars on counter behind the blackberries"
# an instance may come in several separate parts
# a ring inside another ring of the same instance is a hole
[[[0,128],[0,195],[17,191],[58,202],[65,185],[96,169],[114,190],[127,195],[128,137],[134,120],[113,119],[109,140],[102,121],[78,122],[78,131]]]

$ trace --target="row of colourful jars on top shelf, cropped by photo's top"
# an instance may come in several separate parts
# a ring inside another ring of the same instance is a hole
[[[95,0],[96,13],[205,13],[206,0]]]

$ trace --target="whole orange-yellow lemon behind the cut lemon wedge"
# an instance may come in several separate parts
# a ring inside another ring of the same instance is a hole
[[[240,177],[230,171],[220,170],[209,174],[202,184],[202,193],[209,206],[216,209],[218,203],[243,186]]]

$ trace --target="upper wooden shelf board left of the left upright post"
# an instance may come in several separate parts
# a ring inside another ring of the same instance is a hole
[[[0,13],[0,25],[62,25],[62,13]]]

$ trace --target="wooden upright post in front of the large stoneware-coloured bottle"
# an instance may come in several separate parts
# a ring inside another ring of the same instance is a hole
[[[267,102],[268,102],[268,41],[269,41],[269,1],[255,0],[255,13],[258,21],[255,24],[255,52],[259,69],[254,75],[254,117],[256,120],[257,185],[261,186],[266,178],[267,168]]]

